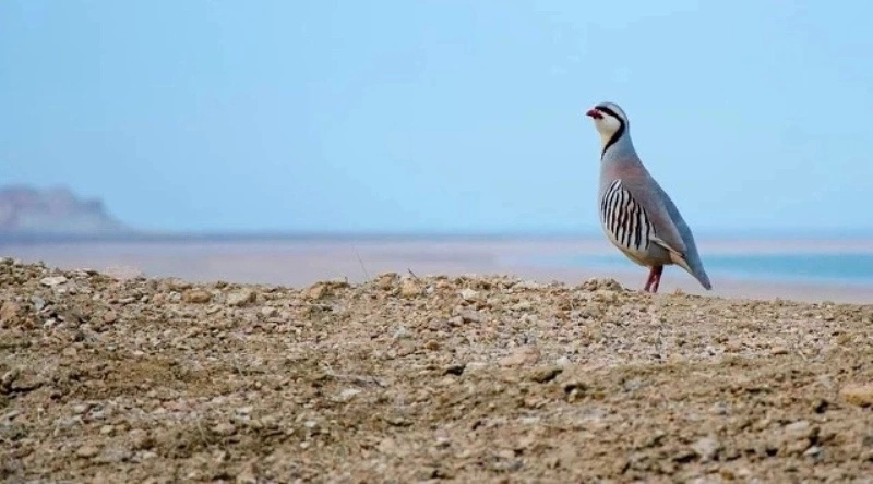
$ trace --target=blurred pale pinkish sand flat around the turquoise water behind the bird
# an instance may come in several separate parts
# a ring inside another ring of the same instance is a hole
[[[829,240],[703,240],[706,254],[768,254],[802,252],[871,252],[873,241]],[[263,240],[215,243],[115,243],[13,245],[0,256],[45,262],[55,267],[142,273],[193,281],[232,280],[249,283],[309,286],[331,278],[362,282],[373,275],[396,271],[416,275],[511,274],[540,282],[577,285],[591,277],[614,278],[630,288],[645,283],[647,271],[630,261],[619,269],[534,265],[531,259],[615,254],[601,237],[574,239],[470,240]],[[740,280],[710,274],[715,289],[705,291],[678,267],[668,267],[661,292],[726,298],[873,303],[873,287]]]

